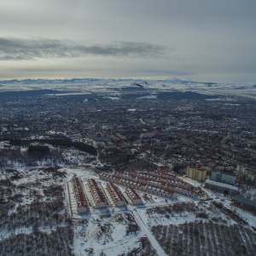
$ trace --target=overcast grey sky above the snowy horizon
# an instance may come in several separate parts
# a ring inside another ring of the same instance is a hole
[[[8,0],[0,79],[256,82],[255,0]]]

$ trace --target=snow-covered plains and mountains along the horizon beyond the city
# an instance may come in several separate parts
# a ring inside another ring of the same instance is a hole
[[[49,91],[45,91],[49,90]],[[18,93],[18,91],[24,91]],[[29,91],[28,94],[25,91]],[[114,93],[125,96],[160,92],[191,91],[204,95],[246,96],[256,99],[256,85],[247,83],[220,84],[211,82],[195,82],[177,78],[171,79],[12,79],[0,80],[1,98],[9,96],[37,96],[45,94],[67,93]],[[13,93],[14,92],[14,93]],[[172,98],[169,95],[160,95]],[[178,95],[175,95],[178,97]],[[191,95],[184,94],[182,97]],[[196,96],[192,95],[193,98]]]

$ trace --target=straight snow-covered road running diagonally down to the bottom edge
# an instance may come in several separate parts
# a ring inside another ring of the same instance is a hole
[[[152,235],[151,231],[148,228],[148,225],[144,224],[143,219],[140,217],[140,215],[137,213],[137,211],[135,211],[136,209],[134,209],[134,207],[130,207],[130,206],[128,206],[128,209],[133,214],[133,217],[136,219],[137,224],[140,226],[141,230],[143,230],[145,232],[146,236],[148,236],[148,240],[150,241],[151,246],[154,247],[156,253],[159,256],[166,256],[165,251],[163,250],[162,247],[160,247],[160,244],[158,243],[158,241],[156,241],[155,237]]]

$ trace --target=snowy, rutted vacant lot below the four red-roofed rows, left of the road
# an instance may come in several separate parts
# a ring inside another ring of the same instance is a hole
[[[93,248],[93,255],[104,252],[115,256],[128,253],[133,247],[140,247],[139,239],[145,236],[143,231],[126,234],[126,228],[124,214],[113,214],[110,218],[102,219],[93,217],[84,224],[77,223],[74,228],[74,253],[84,255],[84,251]]]

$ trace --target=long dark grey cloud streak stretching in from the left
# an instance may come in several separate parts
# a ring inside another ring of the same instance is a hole
[[[161,57],[166,49],[157,44],[117,42],[84,45],[70,40],[0,38],[0,60],[75,58],[84,55]]]

